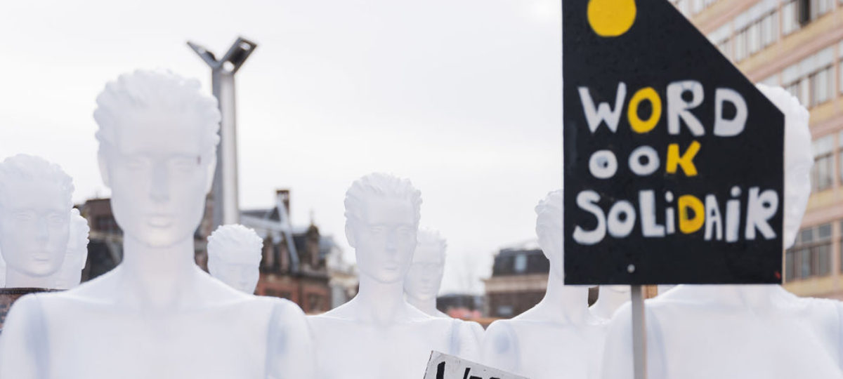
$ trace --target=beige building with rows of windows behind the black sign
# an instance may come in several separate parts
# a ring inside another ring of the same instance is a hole
[[[811,111],[813,194],[785,287],[843,299],[843,0],[671,0],[757,83],[778,85]]]

